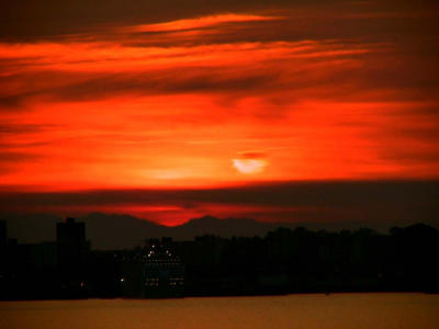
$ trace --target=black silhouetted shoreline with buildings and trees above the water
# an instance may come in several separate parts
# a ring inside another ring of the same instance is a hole
[[[57,241],[5,243],[0,299],[439,292],[439,232],[423,224],[387,235],[299,227],[263,238],[164,238],[113,251],[90,250],[85,229],[69,219]]]

